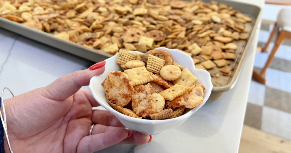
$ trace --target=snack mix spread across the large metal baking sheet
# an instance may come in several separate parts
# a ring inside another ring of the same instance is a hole
[[[114,55],[164,46],[189,54],[196,68],[218,67],[223,75],[236,58],[233,41],[247,39],[245,23],[252,21],[216,1],[0,0],[0,6],[0,17],[91,49]]]

